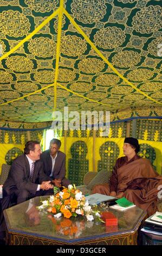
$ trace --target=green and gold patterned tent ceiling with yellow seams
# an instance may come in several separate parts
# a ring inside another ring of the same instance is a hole
[[[160,1],[0,0],[1,119],[160,116]]]

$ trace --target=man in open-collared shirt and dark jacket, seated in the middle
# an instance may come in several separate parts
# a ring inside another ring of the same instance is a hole
[[[70,181],[66,176],[66,155],[60,151],[61,141],[59,139],[52,139],[50,141],[49,149],[44,151],[41,155],[43,162],[44,173],[46,173],[57,187],[68,187]]]

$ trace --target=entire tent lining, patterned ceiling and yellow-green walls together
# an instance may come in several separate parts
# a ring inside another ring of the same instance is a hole
[[[0,0],[0,173],[68,107],[111,112],[107,136],[54,131],[72,182],[112,170],[126,136],[161,174],[161,9],[155,0]]]

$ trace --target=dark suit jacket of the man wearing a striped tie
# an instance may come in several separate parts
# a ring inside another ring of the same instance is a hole
[[[43,164],[40,161],[35,162],[33,182],[30,181],[30,166],[27,156],[25,154],[17,157],[11,166],[9,176],[4,183],[3,189],[10,194],[10,190],[17,188],[18,190],[27,190],[35,194],[37,184],[42,181],[50,180],[43,172]]]

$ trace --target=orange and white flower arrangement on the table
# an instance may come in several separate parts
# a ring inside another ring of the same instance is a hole
[[[80,190],[77,190],[75,185],[69,185],[68,188],[63,188],[62,191],[56,193],[55,196],[50,196],[46,201],[38,206],[39,210],[46,208],[48,212],[53,213],[55,218],[62,215],[65,218],[76,217],[78,215],[86,216],[87,221],[102,221],[100,212],[97,206],[90,206],[85,196]]]

